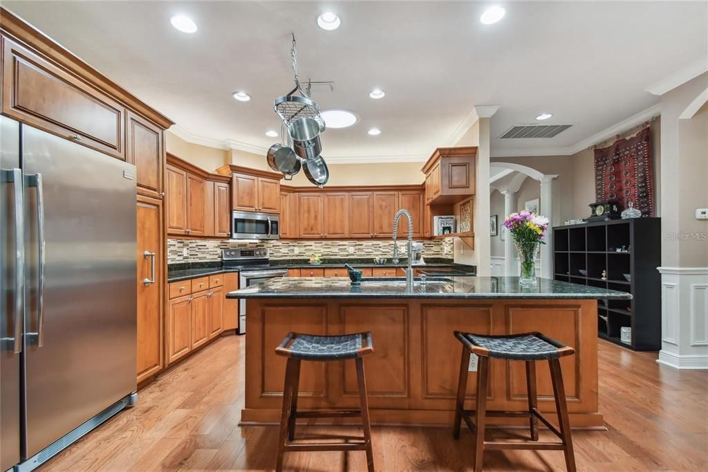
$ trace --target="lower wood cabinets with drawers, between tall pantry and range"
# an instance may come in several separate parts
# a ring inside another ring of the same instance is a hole
[[[224,286],[230,288],[232,276],[236,276],[236,274],[219,274],[211,278],[193,279],[191,285],[190,281],[170,284],[169,293],[174,294],[188,291],[190,287],[197,288],[200,284],[207,289],[177,296],[170,300],[167,314],[168,364],[173,364],[222,333],[224,330],[224,303],[226,302]],[[214,286],[215,283],[222,283],[222,279],[224,286],[208,288],[210,282]],[[217,280],[219,282],[215,282]],[[196,283],[195,281],[201,282]],[[237,317],[238,311],[236,311]]]

